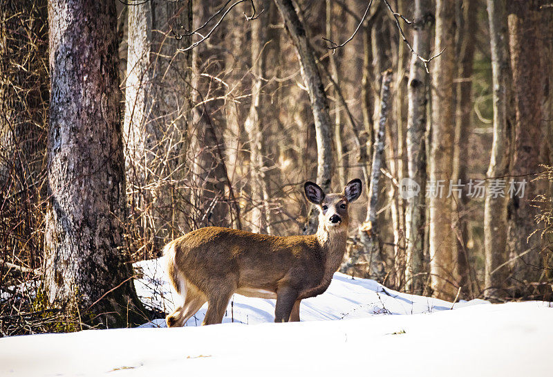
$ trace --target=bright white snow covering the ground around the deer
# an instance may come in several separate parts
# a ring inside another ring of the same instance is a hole
[[[162,268],[138,266],[142,300],[169,311]],[[337,273],[303,300],[300,323],[270,323],[274,301],[234,295],[220,325],[188,328],[203,308],[180,329],[0,339],[0,376],[552,376],[551,306],[453,305]]]

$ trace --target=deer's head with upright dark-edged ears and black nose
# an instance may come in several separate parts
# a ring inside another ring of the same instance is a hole
[[[319,209],[319,224],[329,231],[347,229],[348,204],[359,198],[362,183],[356,178],[344,187],[344,192],[325,194],[319,185],[308,181],[303,186],[303,190],[306,193],[306,199]]]

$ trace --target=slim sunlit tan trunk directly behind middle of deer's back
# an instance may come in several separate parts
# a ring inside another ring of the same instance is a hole
[[[268,119],[262,113],[265,101],[261,93],[263,77],[267,75],[265,62],[268,43],[270,0],[263,0],[261,9],[264,12],[259,18],[251,22],[252,25],[252,104],[250,113],[245,120],[245,130],[250,138],[250,187],[252,190],[252,223],[251,230],[254,233],[270,233],[269,213],[267,202],[269,200],[269,182],[265,176],[268,170],[266,163],[267,149],[265,147],[265,126]]]

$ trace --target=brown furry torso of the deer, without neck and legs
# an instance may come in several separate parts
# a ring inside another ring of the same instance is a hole
[[[236,284],[275,291],[278,284],[319,284],[324,252],[315,236],[276,237],[207,227],[174,243],[174,260],[193,284]],[[207,278],[209,277],[209,278]]]

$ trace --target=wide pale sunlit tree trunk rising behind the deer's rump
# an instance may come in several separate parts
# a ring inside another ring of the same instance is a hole
[[[191,30],[192,1],[142,1],[129,7],[124,141],[131,210],[148,248],[181,232],[182,163],[188,142],[192,52],[173,33]]]

